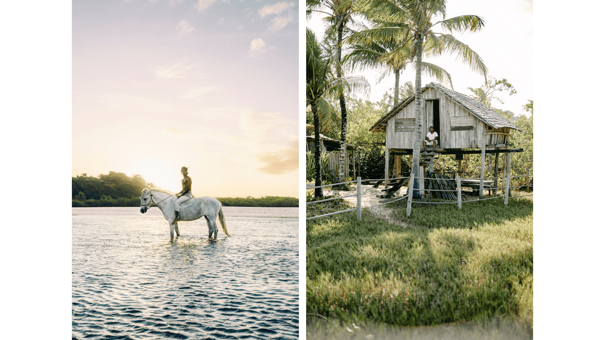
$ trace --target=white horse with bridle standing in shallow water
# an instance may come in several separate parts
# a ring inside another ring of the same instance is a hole
[[[175,231],[177,232],[177,236],[181,235],[178,232],[177,221],[174,220],[176,217],[174,214],[174,202],[176,200],[177,197],[175,195],[169,194],[162,189],[145,189],[141,195],[141,213],[145,214],[151,203],[155,203],[155,205],[160,208],[160,211],[162,211],[166,221],[168,221],[170,226],[170,237],[174,237]],[[221,221],[221,226],[223,226],[223,232],[227,236],[231,236],[229,235],[229,232],[227,232],[227,224],[223,215],[223,206],[218,200],[212,197],[195,197],[181,203],[178,220],[194,221],[200,217],[205,217],[206,223],[208,223],[208,237],[211,238],[212,234],[214,234],[214,237],[217,237],[218,234],[217,216]]]

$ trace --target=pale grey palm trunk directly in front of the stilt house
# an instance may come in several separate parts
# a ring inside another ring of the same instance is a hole
[[[414,188],[418,188],[417,178],[420,176],[420,144],[422,143],[422,41],[424,32],[416,34],[416,86],[414,88],[414,105],[416,105],[416,129],[414,131],[414,147],[412,149],[412,172],[414,173]]]

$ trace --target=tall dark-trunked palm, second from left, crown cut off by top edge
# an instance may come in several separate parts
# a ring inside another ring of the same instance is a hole
[[[336,32],[336,57],[335,68],[336,77],[342,78],[342,36],[347,22],[353,15],[354,0],[307,0],[307,15],[312,11],[326,13],[332,22],[332,30]],[[321,11],[319,8],[327,8],[327,11]],[[338,160],[338,181],[343,182],[345,178],[345,155],[347,152],[347,105],[344,99],[344,90],[338,91],[338,98],[341,108],[341,152]]]

